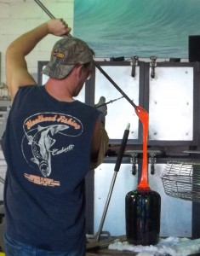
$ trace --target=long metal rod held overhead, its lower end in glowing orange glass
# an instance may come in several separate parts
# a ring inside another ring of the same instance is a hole
[[[55,19],[54,15],[52,15],[52,14],[49,12],[49,10],[43,5],[43,3],[41,3],[39,0],[35,0],[35,2],[43,9],[43,11],[44,11],[47,15],[49,15],[49,17],[50,17],[51,19]],[[71,37],[70,34],[69,34],[69,36]],[[134,102],[129,98],[129,96],[127,96],[127,95],[125,94],[125,92],[111,79],[111,77],[109,77],[109,75],[100,67],[100,65],[97,64],[97,62],[94,61],[94,60],[93,60],[92,62],[93,62],[93,64],[94,64],[94,66],[97,67],[97,68],[100,70],[100,72],[106,77],[106,79],[108,79],[108,80],[111,82],[111,84],[113,84],[114,87],[124,96],[124,98],[125,98],[135,109],[137,109],[137,106],[136,106],[136,105],[134,104]]]

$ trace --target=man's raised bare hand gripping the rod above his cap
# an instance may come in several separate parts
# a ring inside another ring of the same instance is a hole
[[[71,27],[68,26],[63,19],[52,19],[47,21],[49,33],[54,36],[63,36],[71,32]]]

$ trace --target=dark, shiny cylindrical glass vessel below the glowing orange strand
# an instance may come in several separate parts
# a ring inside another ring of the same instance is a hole
[[[130,191],[125,199],[126,235],[130,244],[149,246],[159,241],[161,197],[151,189]]]

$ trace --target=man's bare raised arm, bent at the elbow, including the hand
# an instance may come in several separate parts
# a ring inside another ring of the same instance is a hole
[[[36,84],[28,72],[26,55],[49,33],[61,36],[70,31],[71,28],[63,20],[49,20],[30,32],[26,32],[9,45],[6,51],[6,83],[8,84],[12,101],[19,86]]]

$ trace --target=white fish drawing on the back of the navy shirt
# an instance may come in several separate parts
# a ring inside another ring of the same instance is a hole
[[[33,158],[31,161],[37,164],[43,177],[49,177],[51,173],[51,152],[50,148],[55,143],[54,134],[68,129],[68,125],[49,125],[42,127],[38,125],[37,133],[32,137],[26,135],[28,144],[31,145]]]

